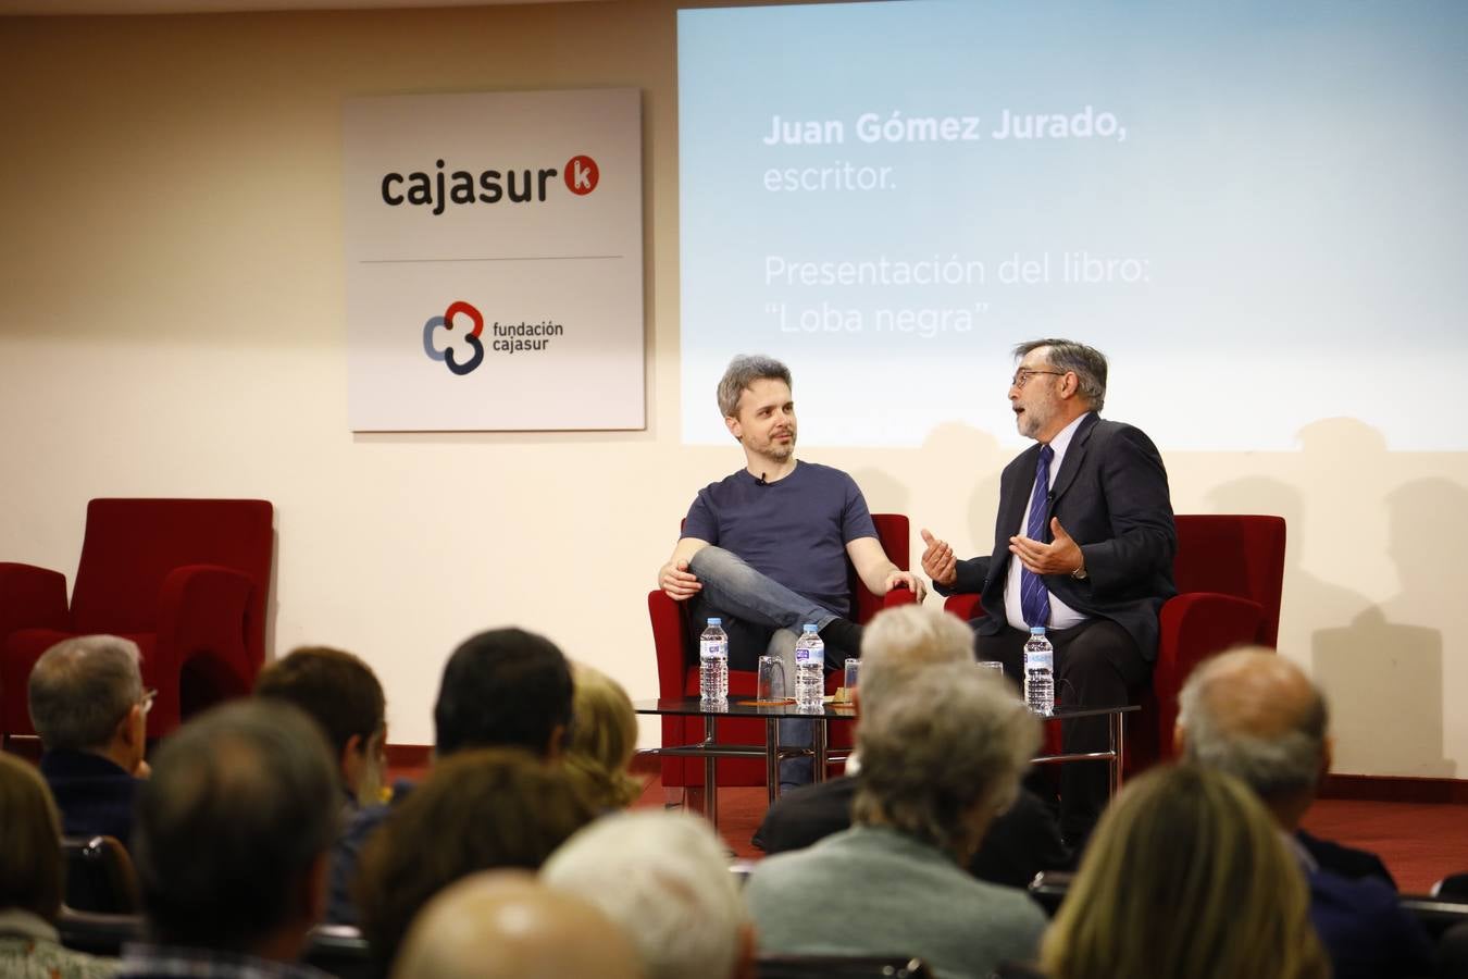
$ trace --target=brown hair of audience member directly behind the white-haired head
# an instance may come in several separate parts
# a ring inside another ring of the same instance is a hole
[[[536,870],[595,812],[559,768],[527,751],[461,751],[393,809],[363,850],[361,929],[389,966],[413,916],[476,870]]]

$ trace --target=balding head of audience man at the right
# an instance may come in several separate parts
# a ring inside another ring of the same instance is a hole
[[[1179,696],[1177,740],[1188,760],[1243,779],[1277,813],[1314,797],[1329,766],[1327,725],[1320,688],[1264,649],[1210,659]]]

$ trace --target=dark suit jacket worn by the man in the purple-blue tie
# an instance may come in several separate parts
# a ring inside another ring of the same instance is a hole
[[[1009,539],[1019,533],[1035,486],[1039,443],[1022,452],[1000,476],[1000,511],[994,523],[994,553],[960,561],[953,589],[978,592],[985,616],[975,621],[984,636],[1009,627],[1004,583]],[[1177,528],[1167,490],[1167,470],[1152,440],[1129,424],[1086,415],[1066,449],[1051,483],[1050,515],[1058,517],[1086,561],[1086,580],[1045,575],[1051,594],[1088,618],[1111,619],[1136,641],[1148,660],[1157,659],[1157,614],[1177,594],[1173,556]],[[1050,524],[1045,542],[1051,540]]]

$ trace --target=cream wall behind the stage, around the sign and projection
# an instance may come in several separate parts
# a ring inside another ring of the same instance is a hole
[[[92,496],[263,496],[272,649],[367,658],[395,743],[432,741],[443,659],[490,625],[655,696],[643,596],[693,492],[740,464],[733,443],[678,445],[675,57],[668,1],[0,19],[0,558],[72,575]],[[649,430],[354,436],[342,98],[596,85],[644,92]],[[1330,383],[1308,367],[1301,385]],[[1114,389],[1145,385],[1113,367]],[[922,379],[860,396],[922,398]],[[807,458],[967,553],[1007,461],[962,426]],[[1179,512],[1290,521],[1280,643],[1333,696],[1337,771],[1456,776],[1468,458],[1389,452],[1336,418],[1295,452],[1167,464]]]

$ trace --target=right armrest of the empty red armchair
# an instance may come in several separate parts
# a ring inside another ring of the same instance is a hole
[[[248,662],[245,646],[254,587],[250,575],[220,565],[189,564],[169,571],[159,589],[159,653],[173,650],[178,669],[188,655],[208,650],[248,688],[260,669],[260,663]]]

